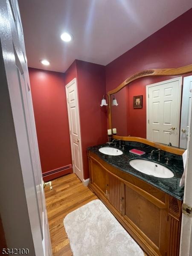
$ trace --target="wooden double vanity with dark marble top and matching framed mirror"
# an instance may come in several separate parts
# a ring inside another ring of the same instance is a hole
[[[109,91],[108,144],[87,150],[89,188],[149,256],[179,256],[190,72],[143,70]]]

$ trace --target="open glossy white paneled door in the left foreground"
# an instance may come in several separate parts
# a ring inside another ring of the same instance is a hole
[[[4,29],[6,34],[2,33],[0,39],[24,185],[23,196],[26,198],[26,214],[29,215],[31,227],[28,232],[32,234],[34,255],[51,256],[41,163],[18,3],[17,0],[2,0],[0,7],[4,9],[3,19],[6,19],[4,24],[7,26]]]

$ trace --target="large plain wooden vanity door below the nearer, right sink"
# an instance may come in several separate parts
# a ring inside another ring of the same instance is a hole
[[[125,216],[130,226],[157,255],[166,256],[167,202],[162,202],[140,188],[125,185]]]

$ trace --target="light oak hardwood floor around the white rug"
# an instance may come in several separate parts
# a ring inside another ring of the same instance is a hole
[[[73,256],[63,219],[98,197],[73,173],[52,180],[52,190],[45,187],[45,198],[53,256]]]

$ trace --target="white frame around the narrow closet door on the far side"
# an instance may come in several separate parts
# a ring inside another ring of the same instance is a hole
[[[69,108],[69,102],[68,102],[68,91],[67,89],[72,85],[75,84],[76,87],[76,93],[77,93],[77,106],[78,106],[78,115],[79,115],[79,95],[78,95],[78,88],[77,88],[77,79],[74,78],[71,80],[66,86],[66,96],[67,96],[67,112],[68,112],[68,121],[69,121],[69,128],[70,128],[70,144],[71,144],[71,155],[72,155],[72,161],[73,161],[73,173],[75,173],[75,168],[74,168],[74,154],[73,154],[73,141],[72,141],[72,136],[71,136],[71,122],[70,122],[70,108]],[[81,125],[80,125],[80,115],[79,115],[79,148],[80,148],[80,154],[81,154],[81,170],[82,170],[82,182],[84,181],[84,172],[83,172],[83,155],[82,155],[82,144],[81,144]]]

